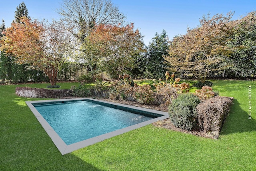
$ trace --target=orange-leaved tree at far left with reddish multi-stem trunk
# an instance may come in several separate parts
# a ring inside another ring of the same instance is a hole
[[[52,85],[56,85],[58,66],[64,62],[70,50],[71,35],[60,23],[43,24],[26,17],[13,22],[6,29],[2,47],[16,56],[19,64],[30,64],[44,71]]]

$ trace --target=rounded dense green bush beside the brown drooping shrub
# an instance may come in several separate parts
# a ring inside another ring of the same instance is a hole
[[[196,106],[199,103],[200,99],[191,93],[181,94],[177,99],[172,100],[168,107],[172,123],[186,130],[198,129]]]

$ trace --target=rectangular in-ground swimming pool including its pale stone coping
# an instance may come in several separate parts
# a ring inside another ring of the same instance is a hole
[[[90,98],[26,103],[62,155],[169,117],[162,111]]]

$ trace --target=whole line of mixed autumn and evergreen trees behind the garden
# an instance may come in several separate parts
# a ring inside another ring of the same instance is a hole
[[[10,27],[0,26],[0,78],[11,82],[256,77],[256,17],[203,16],[200,26],[168,40],[165,30],[145,46],[142,33],[109,0],[63,0],[60,20],[32,20],[22,2]]]

